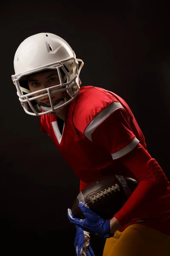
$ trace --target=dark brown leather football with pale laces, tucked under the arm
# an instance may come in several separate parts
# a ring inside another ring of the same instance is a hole
[[[71,212],[76,218],[85,218],[79,208],[81,201],[104,220],[111,219],[137,186],[137,181],[130,177],[122,175],[102,177],[82,189],[71,207]]]

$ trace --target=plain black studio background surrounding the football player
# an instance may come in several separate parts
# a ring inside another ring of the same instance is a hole
[[[67,209],[79,180],[40,132],[38,117],[20,106],[11,81],[19,44],[39,32],[64,38],[84,61],[82,86],[103,87],[127,101],[148,151],[170,179],[168,10],[166,1],[1,1],[0,255],[75,255]],[[97,256],[104,242],[92,236]]]

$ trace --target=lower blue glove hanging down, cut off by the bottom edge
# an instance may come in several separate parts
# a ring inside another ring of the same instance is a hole
[[[83,231],[81,227],[76,225],[76,237],[74,241],[74,247],[76,250],[76,256],[95,256],[91,249],[89,233]]]

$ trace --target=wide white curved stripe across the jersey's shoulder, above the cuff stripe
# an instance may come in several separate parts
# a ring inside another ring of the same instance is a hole
[[[93,131],[118,108],[123,108],[120,102],[112,102],[110,105],[104,108],[85,128],[85,136],[92,141],[91,134]]]

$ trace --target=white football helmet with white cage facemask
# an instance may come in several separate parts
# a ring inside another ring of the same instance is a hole
[[[80,66],[79,61],[82,62]],[[76,58],[70,45],[57,35],[38,33],[26,38],[15,53],[15,74],[11,76],[26,113],[33,116],[58,113],[65,105],[73,101],[79,93],[81,85],[79,73],[83,65],[83,61]],[[37,90],[36,93],[39,93],[39,96],[34,96],[34,92],[31,93],[29,90],[27,76],[42,70],[57,70],[60,84]],[[64,79],[62,79],[61,71],[65,74]],[[61,91],[66,91],[70,97],[59,99],[53,104],[51,95]],[[44,96],[49,97],[50,106],[39,104],[36,101]]]

